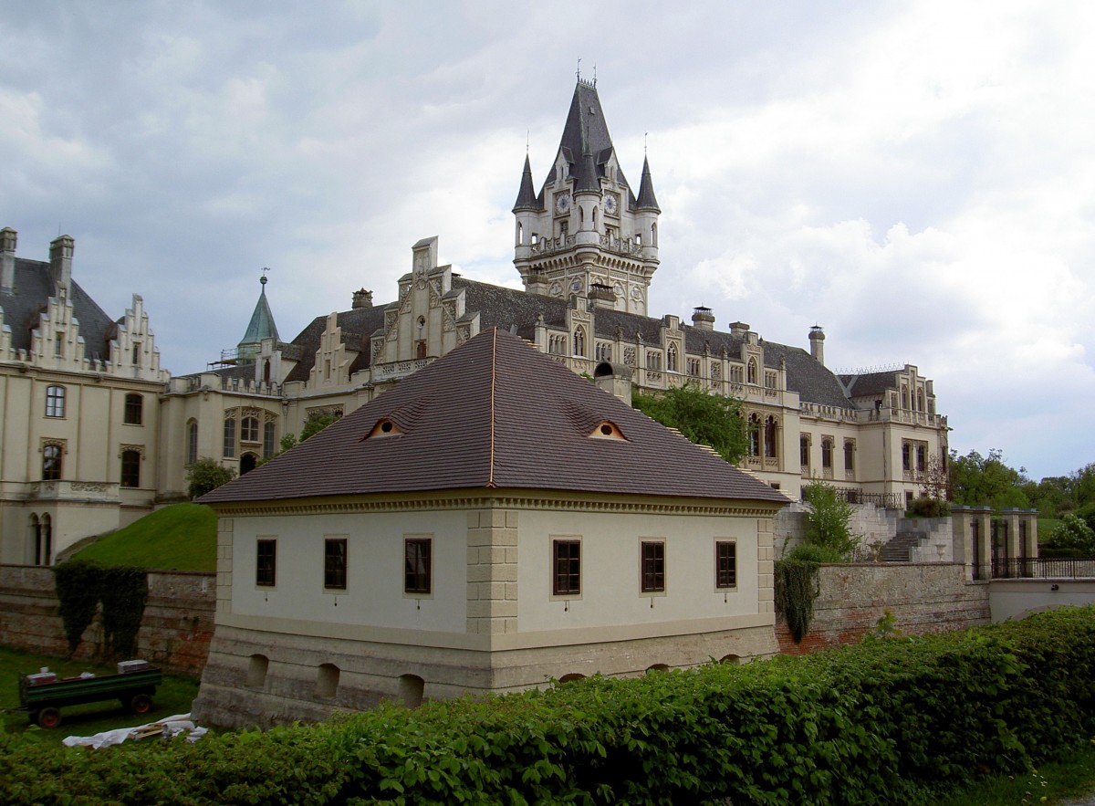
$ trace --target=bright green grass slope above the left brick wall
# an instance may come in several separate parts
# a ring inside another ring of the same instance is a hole
[[[217,514],[172,504],[79,551],[73,559],[152,571],[217,571]]]

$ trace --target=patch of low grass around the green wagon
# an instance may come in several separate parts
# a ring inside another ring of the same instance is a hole
[[[61,660],[0,647],[0,709],[4,711],[4,733],[35,730],[43,741],[59,745],[66,736],[91,736],[117,727],[136,727],[174,714],[187,714],[191,711],[191,703],[198,693],[196,681],[164,675],[163,682],[152,698],[152,710],[147,714],[140,716],[130,714],[117,700],[90,702],[61,709],[60,727],[42,730],[36,725],[31,726],[25,712],[8,710],[19,707],[19,672],[25,675],[37,671],[43,666],[56,671],[58,677],[70,677],[81,671],[95,675],[113,675],[117,671],[114,665],[97,666],[80,660]]]

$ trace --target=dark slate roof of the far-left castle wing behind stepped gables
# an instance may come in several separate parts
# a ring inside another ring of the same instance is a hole
[[[0,293],[3,323],[11,327],[11,346],[31,349],[31,330],[38,326],[38,318],[54,295],[54,278],[49,263],[15,258],[14,293]],[[105,361],[111,357],[110,342],[116,334],[114,321],[106,315],[76,280],[69,284],[72,315],[80,323],[84,341],[84,357]]]

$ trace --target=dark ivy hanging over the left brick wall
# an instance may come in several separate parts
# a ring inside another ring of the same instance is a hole
[[[105,568],[91,561],[70,560],[54,566],[54,584],[70,655],[80,646],[101,602],[103,655],[132,656],[148,601],[148,575],[143,568],[125,565]]]

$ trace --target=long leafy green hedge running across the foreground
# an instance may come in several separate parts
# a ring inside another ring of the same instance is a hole
[[[1095,735],[1095,609],[110,750],[0,737],[23,803],[927,803]]]

